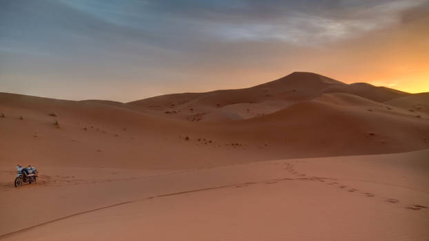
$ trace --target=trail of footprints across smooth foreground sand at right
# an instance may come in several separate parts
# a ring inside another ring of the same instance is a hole
[[[295,176],[298,177],[304,177],[306,176],[306,174],[300,174],[297,170],[294,169],[294,166],[291,163],[284,163],[284,165],[286,165],[286,167],[284,169],[286,169],[287,171],[290,172],[290,174],[293,174]],[[316,178],[316,177],[312,177],[312,178],[295,178],[295,180],[312,180],[312,181],[319,181],[319,182],[326,182],[326,180],[336,180],[335,178]],[[272,182],[266,182],[266,183],[272,183]],[[332,186],[337,186],[340,189],[345,189],[346,191],[350,192],[350,193],[363,193],[363,195],[365,195],[368,198],[374,198],[375,194],[374,193],[368,193],[368,192],[361,192],[358,189],[355,188],[351,188],[348,187],[346,185],[341,185],[341,183],[337,182],[337,181],[330,181],[330,182],[326,182],[327,185],[332,185]],[[389,203],[399,203],[399,200],[395,199],[395,198],[387,198],[387,199],[383,199],[385,202],[389,202]],[[410,210],[421,210],[421,209],[428,209],[428,207],[423,206],[423,205],[410,205],[405,207],[406,209],[410,209]]]

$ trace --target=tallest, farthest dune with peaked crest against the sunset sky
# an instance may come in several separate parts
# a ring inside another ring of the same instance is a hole
[[[188,121],[228,121],[270,114],[299,101],[308,101],[329,93],[352,94],[379,103],[415,96],[367,83],[348,85],[319,74],[294,72],[275,81],[246,89],[168,94],[133,101],[128,105],[133,109],[166,118]],[[427,100],[425,101],[428,103]],[[261,109],[260,105],[264,107]]]

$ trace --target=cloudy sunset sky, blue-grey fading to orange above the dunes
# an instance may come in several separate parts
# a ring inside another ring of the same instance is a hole
[[[135,101],[316,72],[429,92],[429,0],[0,0],[0,92]]]

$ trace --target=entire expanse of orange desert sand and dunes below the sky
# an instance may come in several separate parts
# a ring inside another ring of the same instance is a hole
[[[131,103],[0,93],[0,238],[428,240],[427,97],[306,72]],[[17,163],[39,183],[12,187]]]

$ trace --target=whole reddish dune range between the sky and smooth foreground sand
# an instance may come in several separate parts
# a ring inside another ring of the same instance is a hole
[[[130,103],[0,93],[0,112],[8,165],[183,169],[429,148],[429,93],[308,72]]]

